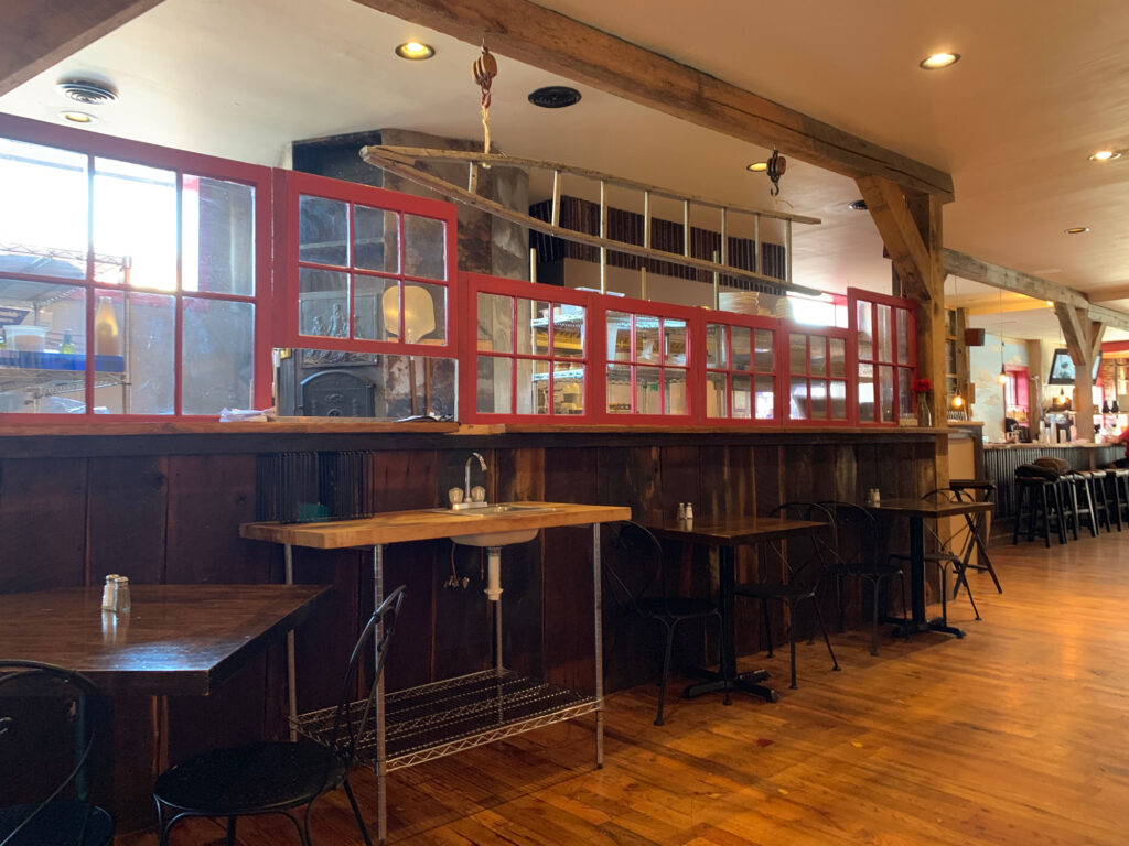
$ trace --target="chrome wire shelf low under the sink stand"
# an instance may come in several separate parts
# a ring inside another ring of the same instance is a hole
[[[390,770],[590,714],[599,707],[590,694],[505,669],[397,690],[384,702]],[[352,703],[352,715],[360,719],[364,707],[365,702]],[[335,713],[335,707],[323,708],[292,722],[301,734],[327,742]],[[375,714],[369,714],[357,758],[376,764]]]

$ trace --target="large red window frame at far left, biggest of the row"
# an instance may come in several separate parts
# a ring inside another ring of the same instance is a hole
[[[95,390],[95,310],[99,296],[107,293],[124,294],[131,297],[145,297],[157,294],[173,297],[175,301],[174,311],[174,337],[173,343],[173,412],[170,414],[111,414],[98,415],[99,423],[128,423],[139,421],[168,421],[180,420],[215,420],[216,414],[187,415],[182,413],[182,387],[184,372],[183,354],[183,325],[185,300],[221,300],[226,302],[247,302],[255,309],[255,337],[252,340],[252,396],[256,407],[266,407],[271,404],[273,387],[273,374],[270,352],[270,328],[271,328],[271,206],[272,206],[272,179],[271,169],[259,165],[221,159],[213,156],[176,150],[156,144],[142,143],[140,141],[129,141],[112,135],[103,135],[87,130],[71,129],[69,126],[55,126],[53,124],[32,121],[15,115],[0,114],[0,138],[20,141],[43,147],[64,149],[87,157],[88,178],[93,178],[94,159],[106,158],[117,161],[125,161],[142,165],[151,168],[175,171],[177,188],[177,256],[176,277],[177,285],[174,291],[154,291],[151,289],[131,288],[129,284],[112,284],[96,281],[93,267],[95,262],[93,243],[93,214],[88,213],[87,219],[87,254],[91,258],[87,259],[87,272],[84,279],[53,279],[51,276],[36,274],[6,274],[12,279],[27,279],[34,282],[58,282],[70,288],[81,288],[86,296],[86,337],[87,355],[85,369],[85,402],[86,409],[82,414],[0,414],[5,424],[11,425],[42,425],[50,421],[52,425],[76,425],[82,426],[94,420],[94,397]],[[248,185],[255,191],[255,271],[254,271],[254,293],[251,296],[213,293],[209,291],[185,291],[181,285],[183,267],[183,214],[181,210],[181,199],[184,191],[185,178],[203,177],[209,179],[239,183]],[[88,202],[90,202],[88,200]]]

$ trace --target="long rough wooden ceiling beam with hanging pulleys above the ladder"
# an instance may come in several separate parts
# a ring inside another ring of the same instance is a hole
[[[855,179],[953,200],[943,170],[528,0],[355,2]]]

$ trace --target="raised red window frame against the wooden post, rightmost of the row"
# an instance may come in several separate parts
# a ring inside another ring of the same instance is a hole
[[[868,310],[870,323],[870,355],[863,356],[859,351],[859,310],[860,307]],[[886,337],[890,358],[881,356],[881,343],[878,336],[878,315],[882,307],[890,308],[890,334]],[[905,312],[905,361],[899,358],[899,341],[902,333],[898,328],[898,314]],[[847,315],[850,328],[851,343],[849,349],[854,351],[854,373],[858,382],[848,402],[851,405],[855,421],[858,425],[867,426],[896,426],[898,420],[903,414],[912,414],[916,411],[916,399],[912,397],[912,385],[917,377],[917,303],[903,297],[889,297],[870,291],[861,291],[857,288],[847,289]],[[863,386],[861,368],[870,365],[874,369],[874,413],[863,416],[861,402],[858,391]],[[879,402],[879,376],[882,369],[893,370],[893,402],[891,405],[891,418],[884,420],[882,403]],[[902,390],[904,388],[904,391]],[[935,386],[935,390],[940,390],[940,386]]]

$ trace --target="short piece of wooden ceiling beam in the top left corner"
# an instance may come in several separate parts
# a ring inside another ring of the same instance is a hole
[[[0,95],[112,33],[160,0],[3,0]]]

